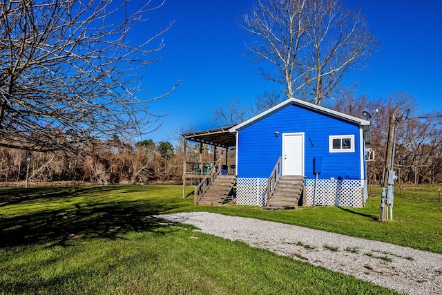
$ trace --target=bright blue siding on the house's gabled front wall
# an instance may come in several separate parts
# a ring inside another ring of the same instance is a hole
[[[276,137],[275,131],[280,135]],[[289,105],[238,131],[238,177],[267,178],[282,154],[282,133],[305,133],[305,176],[314,178],[313,159],[322,157],[319,178],[361,179],[358,124]],[[354,135],[354,153],[329,153],[329,135]]]

